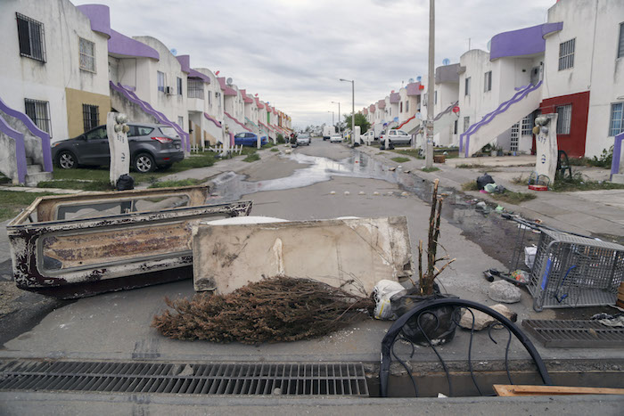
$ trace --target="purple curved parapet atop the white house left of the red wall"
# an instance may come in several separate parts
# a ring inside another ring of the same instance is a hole
[[[531,26],[530,28],[499,33],[492,37],[489,60],[494,61],[495,59],[509,56],[544,53],[546,50],[544,31],[546,30],[547,33],[554,31],[552,27],[545,29],[545,26],[546,25]]]

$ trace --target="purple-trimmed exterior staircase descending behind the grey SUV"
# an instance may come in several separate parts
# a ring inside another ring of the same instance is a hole
[[[137,119],[138,111],[142,111],[148,118],[152,118],[152,122],[164,124],[165,126],[172,126],[177,134],[182,138],[185,148],[185,153],[189,153],[191,151],[191,136],[184,131],[181,126],[178,126],[177,123],[169,120],[163,113],[158,110],[155,110],[149,102],[145,102],[141,100],[134,91],[130,90],[126,86],[122,86],[121,84],[115,84],[112,81],[109,81],[109,86],[111,86],[111,102],[113,107],[117,109],[123,109],[124,112],[128,114],[128,118],[135,118],[136,121],[141,121]],[[114,94],[117,93],[117,94]],[[125,100],[121,100],[121,98]],[[131,104],[131,105],[128,105]]]

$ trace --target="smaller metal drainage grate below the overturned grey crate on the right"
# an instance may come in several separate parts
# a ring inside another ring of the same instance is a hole
[[[597,321],[525,319],[522,326],[544,347],[616,348],[624,345],[624,328],[612,328]]]

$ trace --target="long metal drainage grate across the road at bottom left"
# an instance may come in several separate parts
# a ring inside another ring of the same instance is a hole
[[[0,390],[182,395],[368,396],[362,363],[144,363],[16,360]]]

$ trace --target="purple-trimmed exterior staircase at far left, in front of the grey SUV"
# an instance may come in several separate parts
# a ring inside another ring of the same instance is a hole
[[[52,179],[50,135],[0,99],[0,172],[13,184],[36,186]]]

